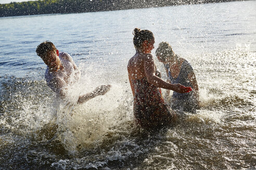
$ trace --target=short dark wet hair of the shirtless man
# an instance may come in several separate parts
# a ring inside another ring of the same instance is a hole
[[[55,45],[50,41],[44,41],[36,48],[36,53],[39,55],[43,60],[46,58],[47,52],[56,50]]]

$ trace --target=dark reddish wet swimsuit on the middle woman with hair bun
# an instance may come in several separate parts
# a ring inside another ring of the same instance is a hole
[[[145,128],[170,124],[174,114],[164,103],[161,89],[150,84],[146,77],[132,80],[135,96],[133,112],[137,122]]]

